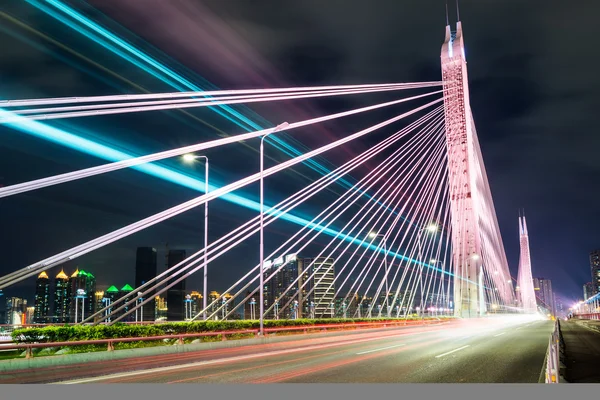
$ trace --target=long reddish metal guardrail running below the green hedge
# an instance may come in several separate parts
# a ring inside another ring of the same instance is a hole
[[[265,336],[269,333],[274,332],[286,332],[286,331],[303,331],[304,334],[308,333],[309,330],[321,330],[327,331],[333,329],[359,329],[365,327],[398,327],[398,326],[418,326],[418,325],[439,325],[443,324],[441,320],[415,320],[415,321],[386,321],[386,322],[357,322],[354,324],[327,324],[327,325],[300,325],[300,326],[283,326],[265,328]],[[184,344],[184,339],[199,338],[207,336],[221,336],[221,340],[227,340],[227,335],[235,334],[253,334],[259,337],[258,329],[246,329],[246,330],[232,330],[232,331],[220,331],[220,332],[202,332],[202,333],[183,333],[174,335],[161,335],[161,336],[143,336],[143,337],[128,337],[128,338],[111,338],[111,339],[96,339],[96,340],[73,340],[66,342],[44,342],[44,343],[12,343],[8,346],[2,346],[2,350],[21,350],[25,349],[25,358],[33,357],[33,349],[39,348],[50,348],[50,347],[72,347],[72,346],[85,346],[85,345],[106,345],[107,351],[114,350],[115,343],[127,343],[127,342],[144,342],[144,341],[156,341],[165,339],[177,339],[178,344]],[[7,342],[2,342],[7,343]]]

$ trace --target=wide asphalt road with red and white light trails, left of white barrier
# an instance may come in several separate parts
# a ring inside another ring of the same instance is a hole
[[[92,363],[2,383],[537,383],[553,323],[498,319]],[[77,376],[80,379],[75,379]],[[85,377],[83,377],[85,376]],[[12,382],[11,382],[12,381]],[[58,383],[58,382],[57,382]]]

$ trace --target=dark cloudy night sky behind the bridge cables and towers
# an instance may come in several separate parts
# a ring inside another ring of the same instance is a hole
[[[14,3],[18,4],[0,6],[1,98],[176,91],[36,8],[36,1]],[[207,82],[235,89],[441,78],[446,18],[442,0],[65,3],[203,87]],[[451,3],[452,22],[456,11]],[[590,280],[588,254],[600,248],[599,13],[600,4],[592,0],[576,6],[559,0],[463,0],[460,9],[471,105],[511,271],[516,277],[517,216],[522,208],[529,225],[533,275],[551,279],[555,292],[569,302],[582,297],[582,285]],[[404,94],[236,109],[254,113],[256,121],[260,115],[261,124],[274,126],[399,95]],[[282,137],[305,151],[389,118],[387,112]],[[51,125],[137,155],[243,132],[206,109],[79,118]],[[6,127],[0,127],[0,135],[4,186],[106,162]],[[333,168],[364,151],[372,140],[377,139],[353,143],[319,162]],[[257,172],[257,149],[258,142],[252,141],[209,151],[214,179],[222,184]],[[267,166],[287,159],[272,148],[268,154]],[[190,167],[167,160],[161,165],[203,176],[202,164]],[[267,198],[278,201],[317,176],[305,166],[280,174],[267,181]],[[336,193],[341,190],[332,188]],[[240,193],[257,199],[258,185]],[[197,195],[140,172],[119,171],[0,199],[0,274]],[[329,201],[334,195],[329,192]],[[327,204],[327,196],[302,213],[316,214],[319,204]],[[94,251],[66,270],[79,266],[91,271],[99,287],[133,284],[135,248],[156,247],[159,265],[164,264],[167,243],[190,253],[198,250],[202,212],[201,208],[188,212]],[[213,238],[256,215],[222,200],[211,202],[211,213]],[[268,231],[267,250],[297,228],[275,224]],[[258,260],[256,243],[257,238],[211,267],[215,289],[222,290],[229,276],[241,274]],[[5,292],[32,299],[33,281]],[[200,287],[200,276],[189,280],[188,288]]]

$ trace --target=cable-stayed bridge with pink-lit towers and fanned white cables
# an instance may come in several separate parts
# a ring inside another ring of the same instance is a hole
[[[135,288],[143,300],[124,296],[113,302],[110,307],[97,310],[85,322],[114,323],[126,320],[138,308],[151,301],[152,295],[164,293],[191,274],[204,271],[206,277],[211,262],[257,233],[261,235],[260,249],[257,249],[261,254],[260,262],[249,266],[247,273],[231,282],[231,286],[226,290],[231,295],[223,301],[214,299],[211,303],[207,302],[205,280],[203,310],[192,319],[212,319],[219,316],[227,318],[239,307],[255,301],[254,297],[257,296],[262,300],[259,300],[256,306],[256,314],[261,321],[263,318],[289,316],[290,311],[293,311],[296,317],[309,314],[323,317],[330,315],[330,312],[333,315],[341,313],[346,317],[373,315],[374,312],[378,316],[406,317],[415,311],[424,313],[426,310],[436,309],[445,314],[472,318],[486,315],[492,310],[523,312],[535,308],[518,307],[525,301],[517,301],[515,295],[477,139],[469,101],[460,22],[456,31],[452,31],[450,26],[446,29],[441,64],[441,82],[190,91],[0,102],[1,124],[21,131],[51,134],[55,133],[53,131],[56,128],[45,125],[43,121],[330,96],[357,96],[374,92],[407,93],[394,101],[309,120],[285,122],[275,128],[259,129],[7,186],[0,189],[0,197],[67,184],[70,181],[123,168],[142,170],[141,166],[169,157],[203,157],[202,152],[208,149],[250,139],[260,140],[262,167],[263,139],[277,136],[278,131],[293,133],[297,128],[399,104],[414,105],[410,111],[369,128],[349,133],[341,139],[275,166],[261,168],[259,173],[221,187],[210,184],[208,157],[204,156],[207,173],[204,182],[205,193],[201,196],[3,276],[0,278],[0,288],[37,276],[42,271],[76,259],[194,207],[205,207],[205,224],[210,226],[208,205],[211,200],[224,198],[248,206],[247,199],[233,192],[259,181],[261,202],[258,204],[259,213],[255,218],[211,243],[208,243],[205,237],[205,245],[200,251]],[[425,93],[411,93],[418,89],[425,90]],[[262,185],[269,176],[307,163],[317,156],[326,157],[328,152],[354,140],[373,136],[378,130],[390,125],[401,126],[393,135],[381,139],[375,146],[323,174],[321,178],[300,188],[280,203],[264,206]],[[190,156],[191,153],[195,155]],[[351,173],[362,171],[361,167],[373,160],[377,160],[378,164],[324,207],[317,216],[308,220],[295,214],[294,210],[302,203],[325,188],[339,184]],[[299,229],[276,250],[264,255],[262,238],[265,228],[277,220],[296,224]],[[311,261],[303,266],[303,271],[299,272],[296,269],[294,279],[282,281],[282,271],[289,268],[289,263],[297,260],[296,255],[304,254],[310,245],[323,240],[327,243],[321,246],[317,254],[311,255]],[[528,250],[526,253],[528,257]],[[282,260],[286,262],[281,262]],[[261,264],[263,268],[260,268]],[[530,272],[527,279],[531,280]],[[266,295],[265,287],[272,288],[276,282],[277,291],[270,289],[270,293]],[[522,284],[521,286],[523,287]],[[318,291],[321,291],[320,297],[315,296],[314,292]],[[524,293],[526,292],[521,290],[521,296]],[[324,296],[325,294],[327,296]],[[533,293],[527,292],[527,296],[532,295]],[[338,298],[342,300],[333,304],[333,300]],[[363,302],[363,299],[370,301]],[[531,302],[530,300],[527,301]],[[323,303],[325,301],[327,304]],[[321,315],[315,315],[315,310],[319,310]]]

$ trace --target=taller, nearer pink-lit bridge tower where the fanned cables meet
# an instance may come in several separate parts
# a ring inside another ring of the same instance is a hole
[[[481,304],[485,299],[478,287],[482,282],[481,236],[474,207],[476,194],[472,190],[476,187],[475,151],[460,22],[456,32],[446,26],[441,62],[451,202],[454,315],[474,318],[485,312]]]

